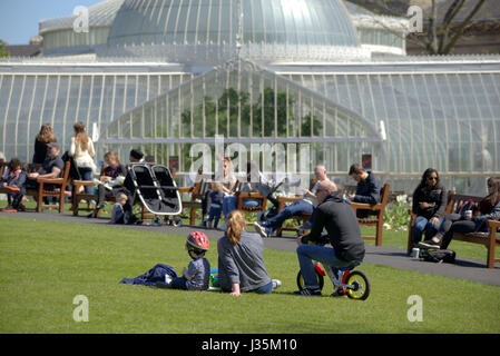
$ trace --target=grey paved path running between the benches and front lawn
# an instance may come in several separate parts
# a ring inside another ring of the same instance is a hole
[[[9,216],[14,218],[24,218],[24,219],[38,219],[38,220],[53,220],[53,221],[67,221],[67,222],[80,222],[80,224],[99,224],[108,227],[116,228],[130,228],[130,229],[139,229],[139,230],[148,230],[148,231],[158,231],[163,234],[176,234],[176,235],[186,235],[193,230],[193,227],[183,226],[183,227],[171,227],[171,226],[124,226],[124,225],[109,225],[109,219],[88,219],[86,217],[75,217],[72,215],[60,215],[56,212],[19,212],[19,214],[6,214],[0,212],[1,216]],[[222,233],[218,230],[209,230],[196,227],[196,229],[203,230],[210,238],[218,238],[222,236]],[[293,237],[272,237],[264,239],[265,246],[267,248],[295,251],[296,243]],[[486,249],[484,249],[484,258],[486,258]],[[484,260],[474,260],[469,258],[458,257],[457,263],[454,265],[450,264],[433,264],[433,263],[424,263],[418,259],[413,259],[406,256],[405,251],[395,248],[395,247],[375,247],[371,245],[366,245],[366,256],[364,261],[366,264],[372,265],[383,265],[390,266],[399,269],[410,269],[424,274],[434,274],[434,275],[443,275],[455,278],[464,278],[474,281],[491,284],[496,286],[500,286],[500,264],[496,264],[496,268],[486,268],[486,259]]]

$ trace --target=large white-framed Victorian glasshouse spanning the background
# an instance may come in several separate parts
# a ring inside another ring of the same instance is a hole
[[[178,177],[222,144],[269,174],[324,164],[347,182],[363,162],[411,192],[432,167],[483,195],[500,57],[410,57],[408,31],[342,0],[102,1],[42,21],[42,57],[0,60],[0,151],[30,161],[45,122],[69,149],[82,121],[98,160],[141,148]]]

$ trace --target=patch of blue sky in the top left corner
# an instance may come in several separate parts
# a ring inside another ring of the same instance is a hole
[[[102,0],[0,0],[0,39],[9,44],[27,44],[38,34],[38,22],[71,16],[78,6]]]

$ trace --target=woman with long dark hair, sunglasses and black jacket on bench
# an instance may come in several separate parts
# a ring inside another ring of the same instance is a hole
[[[440,184],[438,171],[428,168],[422,175],[422,180],[413,192],[412,211],[416,214],[413,225],[413,246],[418,247],[425,233],[425,240],[431,239],[443,222],[443,214],[447,208],[448,192]]]

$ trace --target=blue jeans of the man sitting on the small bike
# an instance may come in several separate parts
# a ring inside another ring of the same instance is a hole
[[[301,245],[297,247],[298,265],[301,266],[302,277],[304,278],[304,286],[306,288],[320,288],[316,279],[316,271],[314,269],[313,260],[317,260],[324,265],[334,268],[343,268],[349,266],[356,266],[361,261],[347,263],[340,259],[335,255],[333,247],[318,245]]]

